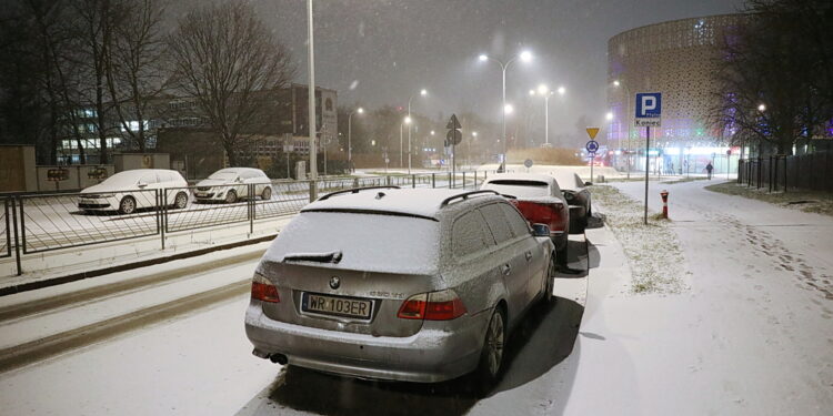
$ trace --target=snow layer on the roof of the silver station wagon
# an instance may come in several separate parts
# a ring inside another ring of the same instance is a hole
[[[471,190],[369,189],[318,200],[307,205],[301,212],[328,210],[380,211],[433,219],[441,210],[441,204],[445,199],[466,192],[471,192]],[[496,195],[493,196],[498,197]]]

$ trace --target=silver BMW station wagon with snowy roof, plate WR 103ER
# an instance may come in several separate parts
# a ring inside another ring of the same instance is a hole
[[[322,196],[258,265],[245,313],[253,354],[370,379],[478,371],[492,384],[511,329],[552,297],[554,247],[545,225],[533,230],[494,191]]]

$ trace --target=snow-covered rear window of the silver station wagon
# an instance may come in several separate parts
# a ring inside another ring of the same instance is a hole
[[[302,212],[274,240],[264,258],[341,252],[322,266],[402,274],[438,270],[440,223],[435,220],[357,212]]]

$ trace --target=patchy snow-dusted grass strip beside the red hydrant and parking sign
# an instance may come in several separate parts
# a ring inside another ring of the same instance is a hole
[[[593,204],[604,213],[604,222],[622,243],[631,266],[633,293],[679,293],[683,283],[683,254],[671,221],[656,215],[643,224],[643,205],[613,186],[591,187]]]

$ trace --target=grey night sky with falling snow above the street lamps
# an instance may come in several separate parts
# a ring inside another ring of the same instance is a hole
[[[307,82],[307,1],[252,0],[294,53]],[[500,120],[498,64],[481,52],[535,54],[508,74],[508,101],[522,106],[530,88],[563,84],[550,101],[551,131],[574,132],[579,116],[602,122],[610,37],[665,20],[736,11],[742,0],[315,0],[315,77],[343,104],[405,105],[436,116],[475,111]],[[352,87],[352,88],[351,88]],[[541,105],[543,106],[543,105]],[[543,112],[543,110],[539,110]]]

